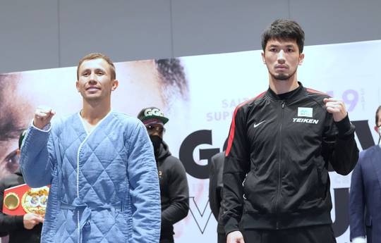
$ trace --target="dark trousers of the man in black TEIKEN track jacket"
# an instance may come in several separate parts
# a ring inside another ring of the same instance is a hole
[[[244,230],[245,243],[336,243],[332,225],[313,225],[285,230]]]

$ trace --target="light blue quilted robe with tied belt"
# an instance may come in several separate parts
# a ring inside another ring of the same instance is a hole
[[[20,157],[28,185],[51,185],[42,242],[159,242],[159,182],[144,125],[111,111],[90,134],[79,113],[45,128],[29,127]]]

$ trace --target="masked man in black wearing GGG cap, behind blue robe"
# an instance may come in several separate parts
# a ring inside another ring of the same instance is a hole
[[[152,141],[160,182],[162,199],[162,230],[160,243],[174,242],[174,223],[185,218],[189,209],[189,189],[186,170],[179,160],[171,156],[163,141],[164,124],[168,118],[156,107],[143,108],[138,114]]]

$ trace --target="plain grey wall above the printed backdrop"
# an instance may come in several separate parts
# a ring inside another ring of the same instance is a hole
[[[306,45],[381,39],[381,1],[0,0],[0,73],[75,66],[93,51],[113,61],[260,49],[275,18]]]

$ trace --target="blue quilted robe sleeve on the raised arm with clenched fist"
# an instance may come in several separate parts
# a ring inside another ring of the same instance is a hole
[[[51,184],[56,155],[52,137],[52,127],[40,130],[30,125],[25,135],[20,154],[20,170],[30,187]]]

